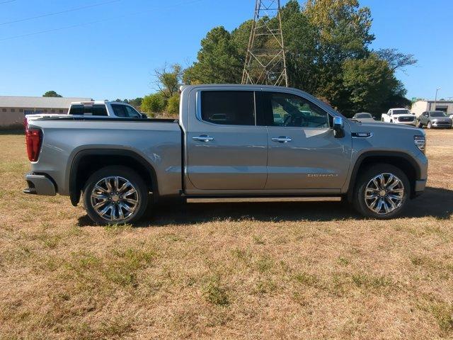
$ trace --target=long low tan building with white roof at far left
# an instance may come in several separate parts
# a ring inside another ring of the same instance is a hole
[[[21,125],[24,116],[32,113],[66,114],[72,101],[91,98],[0,96],[0,127]]]

